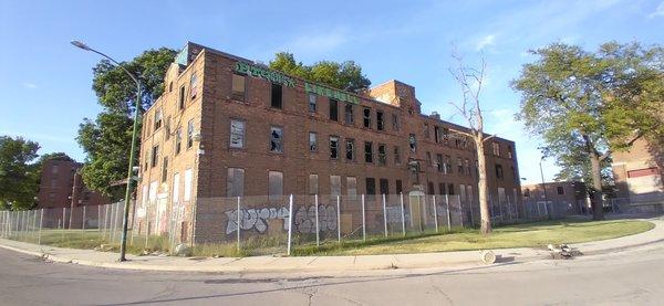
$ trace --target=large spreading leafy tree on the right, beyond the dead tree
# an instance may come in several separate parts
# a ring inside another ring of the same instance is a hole
[[[660,115],[651,109],[656,98],[645,102],[639,88],[656,96],[651,83],[658,77],[661,84],[656,59],[662,57],[641,50],[639,44],[608,43],[591,53],[553,43],[531,51],[539,59],[523,65],[511,84],[522,95],[517,118],[542,137],[543,152],[557,158],[562,177],[583,177],[592,187],[595,220],[603,219],[602,172],[608,172],[612,150],[657,134],[653,122]]]

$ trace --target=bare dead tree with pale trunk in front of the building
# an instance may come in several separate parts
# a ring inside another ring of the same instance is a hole
[[[481,67],[474,68],[466,66],[461,56],[453,52],[452,57],[456,61],[457,67],[450,67],[454,80],[459,84],[463,98],[458,103],[449,103],[468,124],[468,130],[455,130],[458,134],[466,135],[475,141],[478,166],[478,192],[479,192],[479,215],[480,232],[489,234],[491,232],[491,218],[489,215],[487,167],[485,156],[485,141],[495,137],[484,133],[484,117],[480,106],[480,92],[485,82],[485,72],[487,63],[481,57]]]

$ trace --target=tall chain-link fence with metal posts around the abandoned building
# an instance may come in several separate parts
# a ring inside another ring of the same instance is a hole
[[[490,202],[495,224],[550,218],[546,204]],[[124,203],[0,212],[2,238],[114,251]],[[479,207],[459,194],[312,194],[206,198],[131,205],[127,250],[196,255],[292,254],[343,243],[400,239],[477,226]],[[187,247],[187,249],[188,249]],[[178,251],[179,252],[179,251]]]

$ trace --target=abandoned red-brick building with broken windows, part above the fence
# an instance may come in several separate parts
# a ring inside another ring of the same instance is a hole
[[[224,231],[200,205],[229,197],[458,194],[471,208],[474,144],[455,130],[398,81],[351,93],[187,43],[143,117],[134,228],[210,241]],[[489,196],[517,208],[515,143],[489,143]]]

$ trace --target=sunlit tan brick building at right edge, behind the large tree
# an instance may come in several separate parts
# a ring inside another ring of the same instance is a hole
[[[627,151],[613,154],[613,178],[618,202],[632,211],[664,210],[664,154],[636,140]]]

